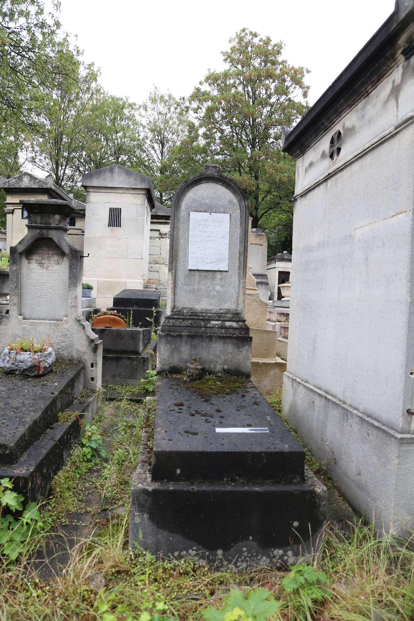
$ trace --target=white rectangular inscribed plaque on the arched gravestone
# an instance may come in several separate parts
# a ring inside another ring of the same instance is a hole
[[[189,270],[228,270],[230,214],[190,212]]]

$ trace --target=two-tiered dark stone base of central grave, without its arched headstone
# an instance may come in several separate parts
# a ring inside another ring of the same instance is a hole
[[[240,570],[292,564],[310,550],[326,489],[305,473],[302,446],[268,402],[245,386],[201,397],[158,378],[155,426],[147,416],[132,481],[130,545]],[[269,433],[215,430],[250,425]]]

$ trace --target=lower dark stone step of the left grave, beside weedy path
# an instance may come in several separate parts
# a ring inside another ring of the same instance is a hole
[[[0,466],[0,479],[11,479],[14,491],[22,494],[25,502],[40,502],[47,496],[53,477],[65,465],[71,447],[83,435],[81,420],[92,422],[96,407],[96,394],[76,399],[67,408],[76,412],[74,420],[50,425],[17,463]]]

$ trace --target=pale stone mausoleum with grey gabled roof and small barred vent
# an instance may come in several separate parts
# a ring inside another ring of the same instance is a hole
[[[97,306],[107,308],[123,289],[142,289],[148,276],[151,179],[135,170],[106,166],[82,176],[86,189],[83,280]]]

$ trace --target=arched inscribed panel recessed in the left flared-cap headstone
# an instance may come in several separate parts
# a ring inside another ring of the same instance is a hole
[[[61,320],[68,315],[69,259],[51,238],[27,248],[20,265],[20,315]]]

